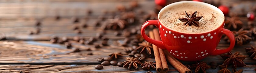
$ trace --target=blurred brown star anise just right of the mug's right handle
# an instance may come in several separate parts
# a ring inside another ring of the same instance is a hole
[[[238,31],[232,31],[232,32],[235,36],[236,45],[243,45],[245,43],[251,42],[251,40],[252,40],[251,37],[249,37],[247,35],[249,33],[248,30],[243,30],[243,28],[241,28]],[[228,36],[225,36],[224,40],[227,41],[228,43],[230,43]]]

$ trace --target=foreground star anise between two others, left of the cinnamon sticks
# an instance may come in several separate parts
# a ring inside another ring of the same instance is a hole
[[[127,67],[128,67],[128,69],[131,69],[131,67],[133,66],[133,68],[137,69],[137,68],[138,68],[138,65],[137,65],[137,64],[142,64],[142,63],[138,60],[137,57],[135,57],[135,58],[133,58],[133,57],[127,57],[126,59],[127,59],[127,61],[122,62],[122,64],[124,64],[124,65],[123,65],[124,68],[127,68]]]

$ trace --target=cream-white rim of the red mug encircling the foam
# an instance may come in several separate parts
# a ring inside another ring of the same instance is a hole
[[[162,8],[162,9],[160,10],[160,12],[158,13],[158,18],[160,17],[160,13],[161,13],[163,10],[165,10],[166,8],[168,8],[168,7],[172,6],[172,5],[176,5],[176,4],[180,4],[180,3],[184,3],[184,2],[200,3],[200,4],[202,4],[202,5],[209,6],[211,9],[214,9],[215,11],[219,12],[222,16],[224,16],[223,12],[222,12],[219,8],[215,7],[214,5],[211,5],[211,4],[208,4],[208,3],[205,3],[205,2],[198,2],[198,1],[180,1],[180,2],[171,3],[171,4],[169,4],[169,5],[166,5],[164,8]],[[163,24],[163,23],[160,21],[160,19],[158,19],[158,21],[160,22],[160,25]],[[168,28],[169,30],[178,32],[178,33],[184,33],[184,34],[203,34],[203,33],[208,33],[208,32],[211,32],[211,31],[214,31],[214,30],[220,28],[220,27],[224,24],[224,22],[225,22],[225,16],[224,16],[224,19],[223,19],[222,24],[219,25],[217,28],[212,29],[212,30],[209,30],[209,31],[205,31],[205,32],[200,32],[200,33],[186,33],[186,32],[180,32],[180,31],[177,31],[177,30],[172,30],[171,28],[165,26],[164,24],[163,24],[162,26]]]

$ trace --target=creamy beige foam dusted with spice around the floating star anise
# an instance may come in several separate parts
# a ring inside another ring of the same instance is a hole
[[[194,25],[188,26],[188,24],[183,25],[185,22],[178,20],[178,18],[186,18],[185,11],[190,15],[197,11],[197,16],[203,16],[203,18],[198,21],[199,27]],[[165,10],[162,10],[159,19],[165,26],[172,30],[184,33],[201,33],[214,30],[222,25],[224,15],[209,6],[185,2],[169,6]]]

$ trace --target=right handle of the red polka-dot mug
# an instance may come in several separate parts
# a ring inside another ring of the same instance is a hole
[[[227,49],[215,49],[211,55],[220,55],[220,54],[227,53],[227,52],[231,51],[233,49],[233,47],[235,46],[235,42],[236,42],[235,36],[230,30],[223,29],[222,34],[225,34],[226,36],[229,37],[229,40],[230,40],[229,47]]]

